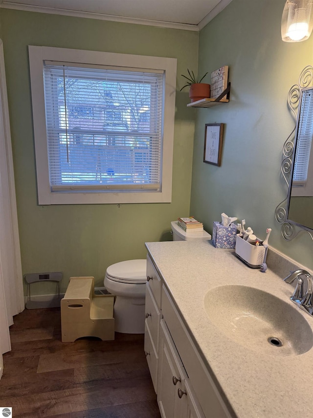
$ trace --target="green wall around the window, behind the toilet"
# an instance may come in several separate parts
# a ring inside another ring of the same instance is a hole
[[[145,258],[144,243],[171,239],[170,221],[189,214],[195,113],[186,108],[188,92],[179,92],[178,75],[172,203],[38,206],[27,46],[174,57],[182,74],[187,67],[197,71],[199,33],[9,9],[0,13],[22,271],[63,271],[63,290],[76,275],[94,276],[102,286],[109,265]],[[34,286],[32,292],[53,289]]]

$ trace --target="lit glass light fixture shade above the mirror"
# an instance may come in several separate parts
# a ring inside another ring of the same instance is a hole
[[[313,0],[287,0],[282,16],[282,40],[309,39],[313,28]]]

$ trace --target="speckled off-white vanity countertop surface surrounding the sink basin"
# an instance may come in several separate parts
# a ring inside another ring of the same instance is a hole
[[[237,417],[311,415],[313,348],[301,355],[280,356],[245,347],[227,338],[210,322],[204,309],[204,296],[210,289],[241,284],[283,299],[313,329],[313,317],[290,300],[293,288],[282,280],[287,274],[278,275],[269,262],[265,273],[251,269],[236,257],[234,250],[215,248],[211,241],[146,243],[146,247],[202,359],[209,364],[223,389],[222,396],[226,396]],[[300,388],[307,390],[301,390],[299,395]]]

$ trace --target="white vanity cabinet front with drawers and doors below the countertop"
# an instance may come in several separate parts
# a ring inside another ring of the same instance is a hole
[[[161,416],[231,418],[164,283],[148,256],[145,354]]]

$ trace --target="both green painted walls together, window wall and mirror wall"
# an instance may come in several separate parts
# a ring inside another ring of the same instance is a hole
[[[170,221],[192,214],[212,232],[222,212],[246,219],[261,238],[272,228],[270,245],[313,268],[311,239],[300,234],[284,241],[274,217],[287,196],[280,172],[282,146],[294,127],[287,94],[301,70],[313,64],[313,36],[301,43],[281,41],[284,4],[233,0],[200,37],[192,31],[0,9],[23,273],[61,270],[63,290],[72,275],[92,275],[102,286],[110,264],[144,258],[145,242],[170,239]],[[178,59],[171,204],[37,205],[28,45]],[[187,109],[180,74],[187,68],[197,72],[197,66],[200,74],[210,73],[222,65],[229,65],[230,102]],[[202,162],[205,123],[225,123],[221,167]],[[53,290],[43,286],[32,292]]]

